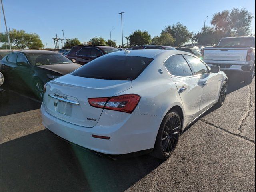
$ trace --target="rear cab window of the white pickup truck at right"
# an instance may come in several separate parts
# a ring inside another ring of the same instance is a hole
[[[255,38],[227,38],[220,40],[219,47],[255,47]]]

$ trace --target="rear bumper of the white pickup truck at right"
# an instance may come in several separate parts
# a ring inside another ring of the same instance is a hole
[[[212,60],[204,60],[208,66],[217,65],[220,66],[220,70],[230,70],[230,71],[238,71],[238,72],[250,72],[252,70],[252,66],[254,66],[253,61],[248,62],[228,62],[228,61],[212,61]]]

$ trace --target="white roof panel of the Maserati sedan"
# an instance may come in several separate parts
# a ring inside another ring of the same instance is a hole
[[[188,52],[184,51],[177,51],[177,50],[166,50],[166,49],[134,49],[134,50],[127,50],[125,51],[117,51],[107,54],[108,55],[127,55],[127,56],[138,56],[138,57],[148,57],[148,58],[155,58],[160,54],[166,54],[169,52],[170,54],[188,54]]]

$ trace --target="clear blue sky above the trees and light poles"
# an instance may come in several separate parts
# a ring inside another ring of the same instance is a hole
[[[246,8],[254,16],[252,31],[255,34],[254,0],[2,0],[6,22],[10,29],[23,29],[39,34],[44,44],[53,48],[51,37],[78,38],[81,42],[95,36],[102,36],[118,44],[123,33],[129,36],[134,30],[147,30],[154,37],[166,25],[182,22],[190,31],[198,32],[204,25],[210,25],[212,15],[234,7]],[[1,8],[1,32],[5,31]],[[124,38],[125,42],[125,38]]]

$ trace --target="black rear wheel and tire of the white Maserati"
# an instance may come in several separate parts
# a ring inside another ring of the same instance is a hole
[[[170,110],[162,120],[152,156],[167,159],[175,150],[181,131],[181,120],[176,110]]]

